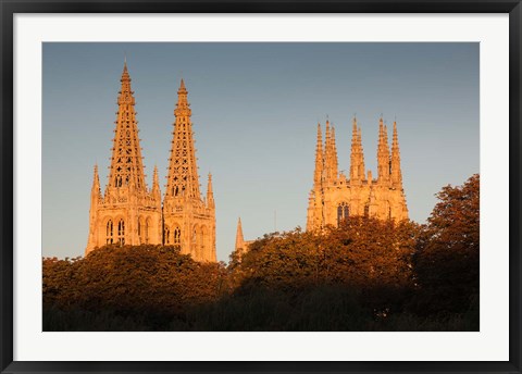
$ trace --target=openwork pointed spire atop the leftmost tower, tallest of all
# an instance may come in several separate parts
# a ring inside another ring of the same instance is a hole
[[[126,63],[123,66],[121,83],[108,187],[135,188],[145,194],[147,186],[134,108],[136,101]]]

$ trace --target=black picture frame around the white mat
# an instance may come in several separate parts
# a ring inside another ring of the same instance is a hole
[[[509,13],[509,361],[499,362],[23,362],[13,361],[13,17],[16,13]],[[1,373],[440,372],[521,373],[520,0],[0,0]]]

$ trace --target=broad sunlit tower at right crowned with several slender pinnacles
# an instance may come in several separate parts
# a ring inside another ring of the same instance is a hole
[[[335,128],[326,121],[323,148],[321,125],[318,124],[315,171],[310,191],[307,230],[325,225],[337,226],[349,215],[375,216],[381,220],[408,219],[402,174],[400,171],[397,123],[394,122],[391,154],[387,128],[383,119],[378,123],[377,178],[364,169],[361,128],[353,119],[351,136],[350,174],[338,172]]]

